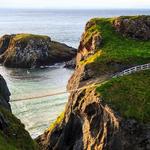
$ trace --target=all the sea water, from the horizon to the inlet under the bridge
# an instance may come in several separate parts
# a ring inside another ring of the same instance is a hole
[[[86,22],[93,17],[149,14],[150,10],[0,10],[0,35],[46,34],[53,40],[78,47]],[[73,71],[56,65],[47,69],[7,69],[0,66],[11,99],[64,91]],[[11,103],[32,137],[36,137],[64,110],[68,95]]]

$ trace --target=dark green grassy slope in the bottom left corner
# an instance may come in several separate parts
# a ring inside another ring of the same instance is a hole
[[[2,107],[0,113],[8,122],[8,126],[0,130],[0,150],[38,150],[19,119]]]

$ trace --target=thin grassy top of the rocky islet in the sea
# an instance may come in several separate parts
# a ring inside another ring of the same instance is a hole
[[[49,39],[48,36],[46,35],[36,35],[36,34],[27,34],[27,33],[22,33],[22,34],[16,34],[14,36],[15,41],[19,40],[29,40],[29,39]]]

